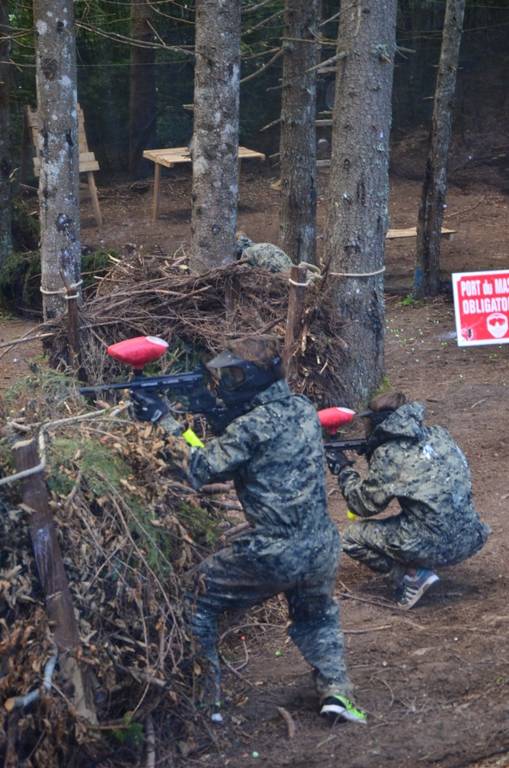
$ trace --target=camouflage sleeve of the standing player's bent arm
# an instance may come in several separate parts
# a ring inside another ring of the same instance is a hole
[[[194,488],[228,480],[249,461],[263,437],[245,419],[236,419],[204,448],[191,448],[188,474]]]

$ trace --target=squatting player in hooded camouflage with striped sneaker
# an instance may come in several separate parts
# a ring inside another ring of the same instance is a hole
[[[472,501],[467,460],[443,427],[423,424],[424,406],[399,392],[372,400],[365,419],[368,475],[344,455],[328,456],[349,510],[366,518],[396,499],[398,515],[357,522],[343,550],[373,571],[391,574],[398,605],[412,608],[439,578],[436,568],[478,552],[490,529]]]

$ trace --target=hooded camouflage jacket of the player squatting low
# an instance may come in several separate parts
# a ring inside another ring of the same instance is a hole
[[[351,467],[339,485],[349,509],[361,517],[377,515],[396,499],[403,523],[419,522],[438,535],[484,528],[472,500],[467,460],[443,427],[423,424],[424,406],[407,403],[370,436],[365,479]]]

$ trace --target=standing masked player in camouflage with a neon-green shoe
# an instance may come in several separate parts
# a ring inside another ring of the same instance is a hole
[[[244,339],[208,363],[225,405],[218,436],[191,447],[186,461],[195,488],[233,479],[247,532],[198,569],[191,627],[208,674],[206,703],[220,721],[218,619],[284,593],[289,634],[314,670],[320,712],[363,723],[350,700],[339,608],[333,598],[339,535],[327,512],[325,458],[316,410],[291,393],[274,340]],[[143,395],[137,416],[167,413]],[[170,417],[171,418],[171,417]],[[161,424],[175,434],[175,421]]]

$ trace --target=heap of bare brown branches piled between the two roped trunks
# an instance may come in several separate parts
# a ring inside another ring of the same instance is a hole
[[[164,372],[193,367],[215,354],[228,339],[246,333],[275,333],[284,339],[288,275],[237,262],[205,274],[190,274],[185,259],[132,252],[117,260],[81,310],[82,371],[102,382],[126,371],[110,360],[109,344],[137,335],[162,336],[172,354]],[[65,322],[52,343],[55,359],[67,346]],[[296,365],[294,389],[317,405],[330,404],[340,391],[339,323],[324,281],[310,285]]]

